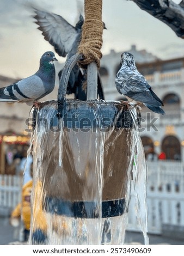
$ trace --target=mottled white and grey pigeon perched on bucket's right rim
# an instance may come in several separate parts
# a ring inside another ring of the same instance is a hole
[[[161,106],[163,102],[152,91],[142,74],[136,67],[134,56],[129,52],[121,54],[121,68],[116,74],[116,89],[123,94],[130,103],[142,102],[151,111],[165,114]]]

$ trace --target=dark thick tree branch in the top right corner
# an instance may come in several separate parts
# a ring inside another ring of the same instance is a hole
[[[167,24],[177,36],[184,39],[184,1],[175,4],[171,0],[132,0],[142,10]]]

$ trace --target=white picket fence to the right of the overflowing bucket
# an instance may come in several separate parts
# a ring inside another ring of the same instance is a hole
[[[148,232],[162,234],[164,224],[184,228],[184,170],[181,162],[148,162]],[[127,230],[140,231],[132,191]]]

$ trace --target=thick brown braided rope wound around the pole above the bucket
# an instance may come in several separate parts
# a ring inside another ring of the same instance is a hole
[[[84,1],[85,21],[82,27],[82,39],[78,46],[78,53],[83,54],[84,59],[79,61],[82,68],[87,68],[91,62],[96,62],[100,68],[102,53],[102,0]]]

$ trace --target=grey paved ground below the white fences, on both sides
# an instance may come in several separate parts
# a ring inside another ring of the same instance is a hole
[[[159,235],[149,234],[150,245],[184,245],[184,237],[181,240],[168,238]],[[19,240],[19,228],[13,228],[9,224],[8,218],[0,217],[0,245],[8,245],[11,242]],[[142,233],[126,232],[126,244],[142,244],[144,245],[144,238]]]

